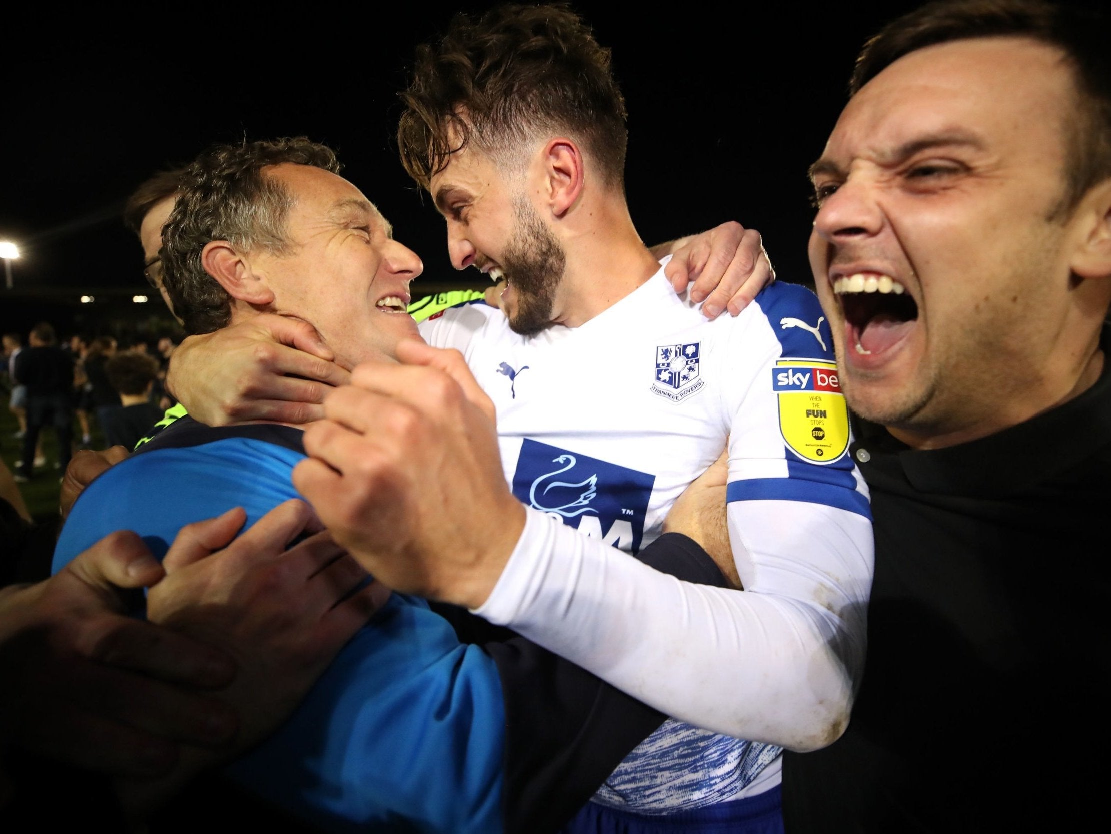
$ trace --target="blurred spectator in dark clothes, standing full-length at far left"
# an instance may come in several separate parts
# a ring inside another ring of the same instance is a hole
[[[73,359],[54,344],[54,328],[48,324],[36,325],[29,342],[14,366],[16,381],[27,386],[27,430],[16,480],[28,480],[33,474],[43,426],[53,425],[58,435],[59,467],[66,468],[73,451]]]

